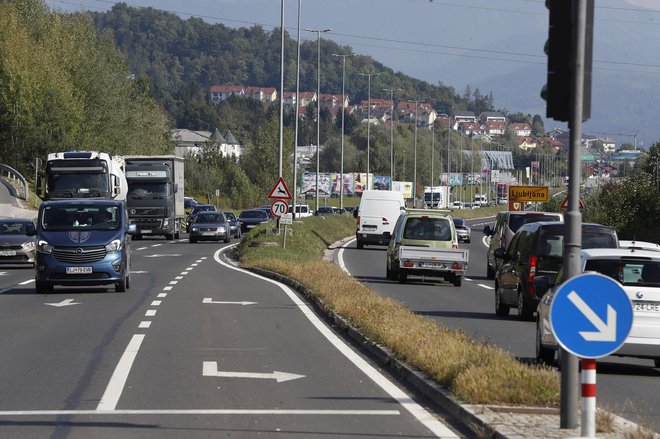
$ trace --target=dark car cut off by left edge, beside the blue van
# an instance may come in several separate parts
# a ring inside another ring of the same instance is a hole
[[[30,264],[36,256],[34,221],[27,218],[0,218],[0,264]],[[28,233],[31,232],[31,235]]]

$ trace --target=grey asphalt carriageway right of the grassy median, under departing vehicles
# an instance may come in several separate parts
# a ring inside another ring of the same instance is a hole
[[[353,276],[383,296],[475,339],[498,345],[521,361],[533,362],[535,323],[518,320],[515,310],[508,317],[495,315],[494,282],[486,279],[486,246],[482,242],[483,226],[492,220],[468,221],[472,240],[461,246],[470,249],[470,264],[462,287],[435,279],[409,278],[405,285],[387,280],[384,246],[358,250],[354,242],[349,243],[341,259]],[[660,431],[660,370],[653,367],[653,361],[611,356],[599,359],[597,367],[598,406]]]

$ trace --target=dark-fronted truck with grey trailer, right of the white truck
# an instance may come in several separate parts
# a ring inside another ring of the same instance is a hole
[[[168,156],[126,156],[128,218],[135,239],[165,236],[179,239],[184,229],[184,159]]]

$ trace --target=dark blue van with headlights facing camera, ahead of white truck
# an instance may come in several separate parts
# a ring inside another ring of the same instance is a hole
[[[130,287],[130,242],[137,233],[123,202],[46,201],[37,218],[37,294],[54,285]]]

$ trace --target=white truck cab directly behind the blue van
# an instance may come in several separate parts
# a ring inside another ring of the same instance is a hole
[[[126,200],[128,183],[122,156],[96,151],[48,154],[37,175],[36,193],[42,200],[104,198]]]

